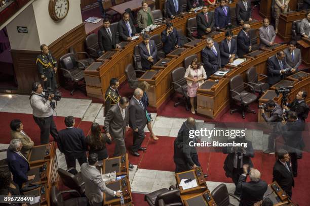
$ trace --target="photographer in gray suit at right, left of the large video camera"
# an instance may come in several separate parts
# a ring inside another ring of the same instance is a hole
[[[280,105],[276,104],[273,100],[269,100],[266,104],[265,108],[261,108],[261,116],[264,118],[266,122],[274,122],[274,123],[280,123],[282,122],[283,118],[283,110],[280,107]],[[270,117],[267,117],[265,114],[266,112],[270,112]],[[275,138],[277,137],[279,133],[279,124],[273,124],[273,130],[270,133],[268,137],[268,148],[265,150],[265,153],[271,153],[274,151],[274,142]]]

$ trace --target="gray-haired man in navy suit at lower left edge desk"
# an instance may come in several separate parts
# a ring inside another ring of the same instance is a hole
[[[22,155],[22,143],[19,139],[12,139],[7,151],[7,161],[13,174],[13,181],[21,188],[24,182],[34,179],[34,175],[27,176],[30,165],[25,156]]]

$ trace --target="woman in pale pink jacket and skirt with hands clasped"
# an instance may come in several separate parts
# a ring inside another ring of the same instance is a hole
[[[207,79],[206,71],[202,65],[198,65],[197,58],[188,66],[184,77],[187,80],[187,94],[190,97],[191,113],[195,114],[194,98],[197,96],[197,89],[204,83],[204,80]]]

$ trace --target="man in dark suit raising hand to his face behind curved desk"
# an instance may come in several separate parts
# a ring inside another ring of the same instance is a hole
[[[167,23],[166,26],[166,30],[162,31],[161,34],[165,55],[181,46],[180,35],[177,30],[173,28],[173,24]]]

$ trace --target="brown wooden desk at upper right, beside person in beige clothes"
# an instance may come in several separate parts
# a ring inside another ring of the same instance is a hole
[[[279,17],[279,36],[286,42],[292,38],[293,21],[301,20],[305,17],[305,12],[287,12],[281,13]]]

